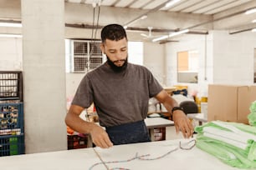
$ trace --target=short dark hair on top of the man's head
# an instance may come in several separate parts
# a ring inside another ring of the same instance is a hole
[[[101,41],[105,42],[106,39],[112,41],[118,41],[123,38],[127,39],[125,28],[119,24],[109,24],[102,28],[101,31]]]

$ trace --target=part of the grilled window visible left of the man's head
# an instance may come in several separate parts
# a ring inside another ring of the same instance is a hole
[[[66,40],[66,72],[90,72],[103,62],[100,42]]]

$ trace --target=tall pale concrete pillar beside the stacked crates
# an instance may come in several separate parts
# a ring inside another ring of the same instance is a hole
[[[67,149],[64,0],[22,0],[25,153]]]

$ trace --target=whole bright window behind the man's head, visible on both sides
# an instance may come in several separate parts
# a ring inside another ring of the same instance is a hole
[[[143,65],[143,42],[128,42],[128,61]],[[90,72],[105,62],[100,41],[65,40],[66,72]]]

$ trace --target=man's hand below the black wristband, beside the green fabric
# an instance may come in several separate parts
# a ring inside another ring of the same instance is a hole
[[[192,137],[194,133],[194,128],[192,126],[192,122],[188,119],[186,114],[181,110],[176,110],[172,113],[172,119],[176,128],[176,133],[182,131],[182,135],[184,138]]]

